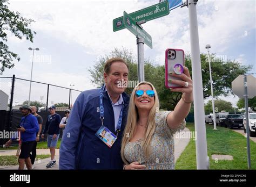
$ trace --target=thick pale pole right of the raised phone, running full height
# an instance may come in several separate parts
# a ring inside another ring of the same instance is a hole
[[[190,17],[190,46],[194,94],[194,125],[197,132],[197,169],[209,169],[196,4],[197,0],[188,0],[187,2],[188,13]]]

